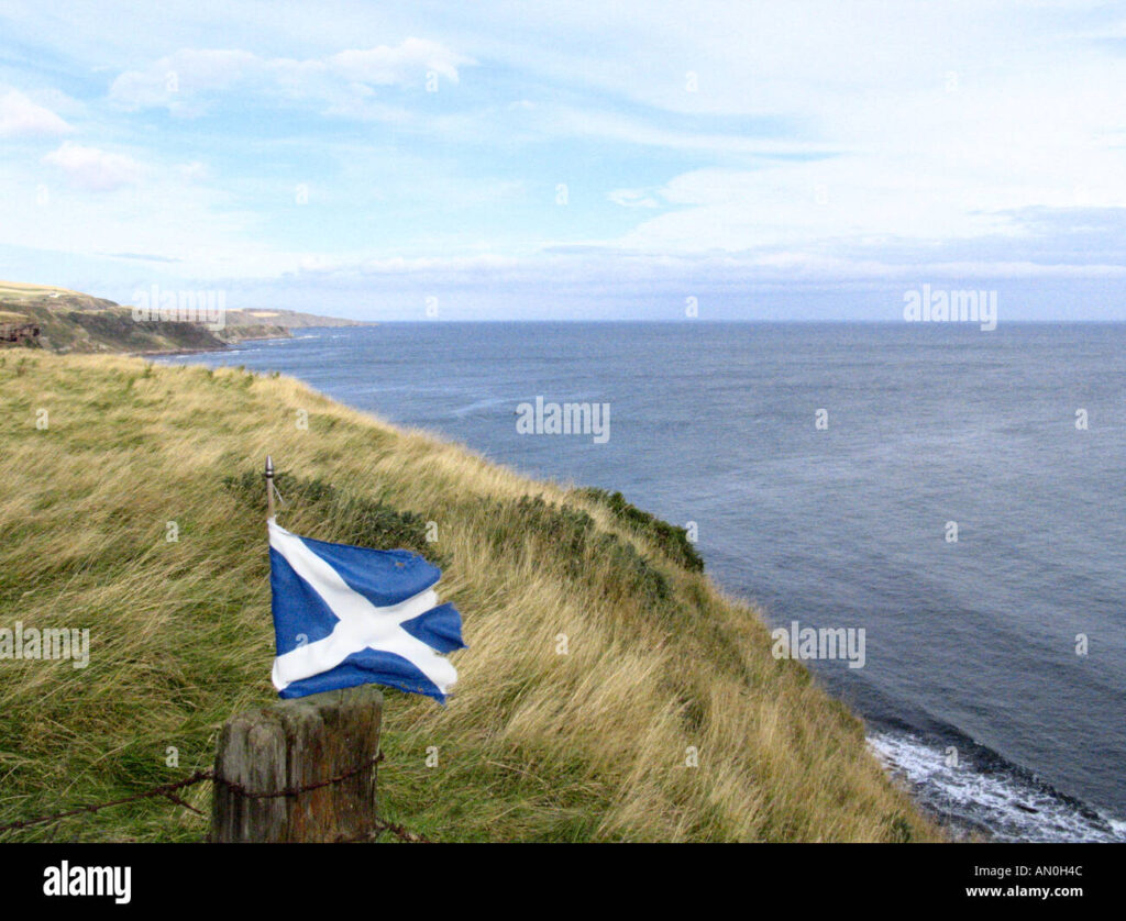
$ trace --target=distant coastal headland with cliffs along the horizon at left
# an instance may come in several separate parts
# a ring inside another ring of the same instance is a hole
[[[248,339],[288,338],[293,329],[354,325],[365,324],[287,310],[227,310],[221,329],[195,322],[137,320],[133,307],[104,297],[0,281],[0,348],[32,346],[56,352],[212,351]]]

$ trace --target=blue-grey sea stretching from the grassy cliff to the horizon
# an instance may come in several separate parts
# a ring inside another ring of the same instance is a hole
[[[383,324],[171,360],[695,522],[771,624],[864,628],[863,668],[810,664],[922,803],[1126,840],[1126,325]],[[537,396],[609,404],[608,440],[519,433]]]

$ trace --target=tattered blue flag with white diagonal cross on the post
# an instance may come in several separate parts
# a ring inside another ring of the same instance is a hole
[[[462,617],[439,605],[441,570],[409,551],[298,537],[271,518],[274,687],[282,697],[390,685],[443,703],[464,649]]]

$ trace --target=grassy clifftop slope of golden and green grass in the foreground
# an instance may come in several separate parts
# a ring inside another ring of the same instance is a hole
[[[84,670],[0,661],[0,824],[208,767],[223,721],[274,698],[271,453],[285,527],[421,549],[463,612],[450,704],[386,691],[386,816],[446,841],[935,837],[861,724],[771,658],[757,612],[712,585],[682,533],[618,498],[240,369],[8,351],[0,393],[0,626],[91,632]],[[186,799],[206,815],[209,795]],[[149,801],[5,838],[206,828]]]

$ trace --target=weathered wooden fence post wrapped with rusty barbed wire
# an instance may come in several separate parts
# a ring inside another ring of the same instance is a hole
[[[346,841],[377,831],[382,715],[383,695],[364,685],[232,716],[215,755],[211,840]]]

